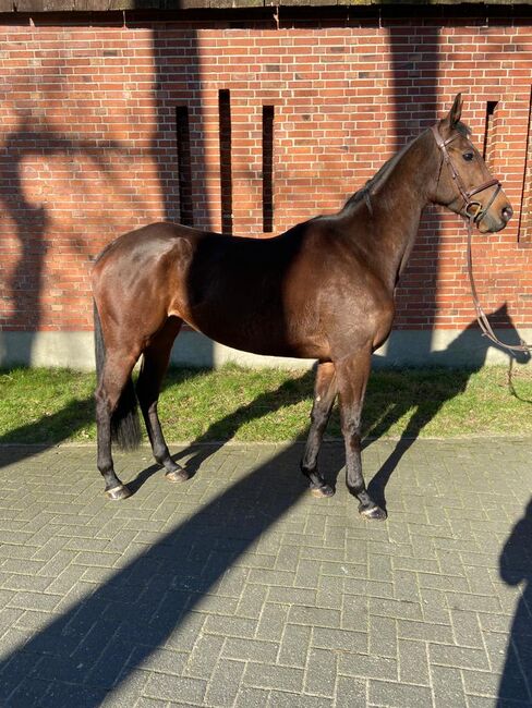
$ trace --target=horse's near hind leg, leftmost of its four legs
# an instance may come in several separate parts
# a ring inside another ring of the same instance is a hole
[[[111,417],[129,383],[135,362],[136,357],[130,356],[128,352],[108,354],[95,395],[98,431],[97,465],[106,483],[106,496],[113,500],[125,499],[131,493],[114,473],[111,454]]]

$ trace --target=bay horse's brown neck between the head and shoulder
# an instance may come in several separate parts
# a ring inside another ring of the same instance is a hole
[[[434,180],[434,146],[427,142],[430,137],[426,132],[413,141],[370,196],[373,215],[367,253],[391,291],[413,247],[428,202],[427,188]]]

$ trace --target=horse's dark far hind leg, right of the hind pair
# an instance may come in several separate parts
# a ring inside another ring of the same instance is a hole
[[[170,457],[165,436],[157,414],[160,384],[168,368],[173,341],[181,329],[182,320],[170,317],[162,329],[152,339],[143,352],[141,374],[136,384],[136,394],[146,423],[154,457],[166,469],[170,481],[183,481],[189,478],[186,472]]]

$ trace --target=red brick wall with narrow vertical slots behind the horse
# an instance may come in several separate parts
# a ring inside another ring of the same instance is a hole
[[[219,90],[230,91],[232,228],[263,235],[263,106],[273,105],[274,232],[339,209],[466,93],[464,119],[516,210],[475,237],[486,310],[532,325],[532,27],[458,17],[247,26],[0,23],[0,325],[92,327],[90,257],[180,218],[176,107],[190,119],[194,223],[221,228]],[[11,20],[10,20],[11,22]],[[226,135],[226,144],[229,137]],[[227,150],[226,150],[227,154]],[[229,195],[229,196],[228,196]],[[229,219],[230,219],[229,215]],[[471,322],[464,229],[432,209],[398,293],[401,328]]]

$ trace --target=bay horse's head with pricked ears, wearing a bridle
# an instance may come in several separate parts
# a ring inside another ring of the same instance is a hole
[[[433,200],[472,219],[481,233],[500,231],[513,210],[471,143],[469,129],[460,122],[461,112],[458,94],[448,115],[432,129],[442,155]]]

